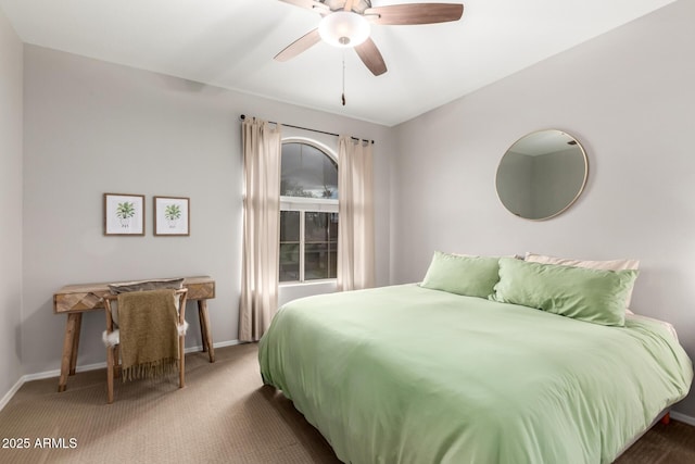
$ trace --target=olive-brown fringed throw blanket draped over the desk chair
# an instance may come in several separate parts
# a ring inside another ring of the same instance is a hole
[[[161,377],[178,365],[178,314],[172,289],[118,294],[123,380]]]

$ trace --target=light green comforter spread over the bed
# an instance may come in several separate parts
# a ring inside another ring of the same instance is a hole
[[[658,323],[417,285],[286,304],[258,356],[264,383],[352,464],[609,463],[693,378]]]

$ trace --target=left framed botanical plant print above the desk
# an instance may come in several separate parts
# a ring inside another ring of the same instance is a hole
[[[104,235],[144,235],[144,196],[104,193]]]

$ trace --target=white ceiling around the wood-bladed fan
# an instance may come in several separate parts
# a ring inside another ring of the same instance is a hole
[[[379,77],[354,50],[323,42],[273,60],[319,21],[279,0],[0,0],[0,8],[27,43],[393,126],[673,1],[467,0],[456,23],[372,26],[389,68]]]

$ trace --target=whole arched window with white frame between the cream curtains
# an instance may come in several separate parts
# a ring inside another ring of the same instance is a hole
[[[337,277],[338,162],[308,139],[282,142],[280,174],[281,283]]]

